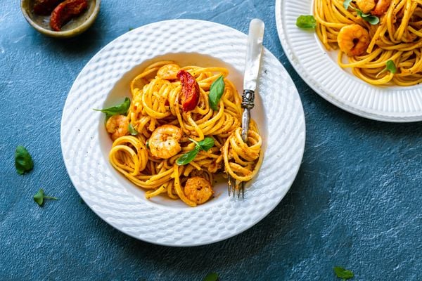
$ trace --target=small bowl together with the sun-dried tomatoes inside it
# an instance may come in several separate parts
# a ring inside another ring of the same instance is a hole
[[[35,30],[49,37],[81,34],[95,21],[101,0],[22,0],[20,8]]]

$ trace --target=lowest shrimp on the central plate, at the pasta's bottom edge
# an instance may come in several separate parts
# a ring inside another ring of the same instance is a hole
[[[196,202],[196,204],[203,204],[210,200],[214,190],[212,190],[211,183],[205,178],[194,176],[186,181],[184,194],[188,197],[188,200]]]

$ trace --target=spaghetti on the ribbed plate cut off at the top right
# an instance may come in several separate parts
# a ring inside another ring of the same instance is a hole
[[[350,67],[354,75],[374,85],[411,86],[422,81],[421,0],[354,0],[347,9],[343,0],[314,3],[316,34],[328,50],[340,46],[340,67]],[[379,16],[379,23],[371,25],[362,13]],[[368,39],[356,25],[363,27]],[[348,52],[359,44],[364,45],[362,52]],[[344,54],[349,55],[348,63],[343,63]],[[386,71],[388,61],[397,72]]]

